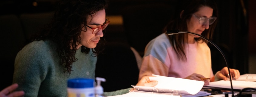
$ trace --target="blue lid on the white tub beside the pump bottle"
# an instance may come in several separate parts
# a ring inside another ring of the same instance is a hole
[[[75,78],[68,80],[69,88],[91,88],[93,87],[94,79]]]

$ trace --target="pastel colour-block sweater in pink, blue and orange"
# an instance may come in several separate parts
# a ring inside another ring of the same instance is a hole
[[[185,49],[187,61],[182,61],[178,60],[165,33],[151,40],[145,48],[139,80],[143,76],[152,74],[185,78],[193,73],[198,73],[206,78],[213,77],[211,51],[208,45],[200,41],[186,46],[188,46]]]

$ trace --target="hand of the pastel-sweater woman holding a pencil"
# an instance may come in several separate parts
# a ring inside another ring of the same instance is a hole
[[[201,79],[205,78],[201,74],[193,73],[189,75],[188,77],[185,77],[185,79],[191,79],[191,80],[198,80],[198,81],[204,81],[204,85],[209,85],[210,81],[208,79]]]

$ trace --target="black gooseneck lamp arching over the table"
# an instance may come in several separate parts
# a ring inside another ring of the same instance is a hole
[[[200,34],[197,34],[197,33],[194,33],[194,32],[189,32],[189,31],[179,31],[179,30],[166,31],[166,34],[168,34],[168,35],[180,34],[180,33],[188,33],[188,34],[198,35],[199,37],[201,37],[201,38],[207,40],[209,43],[211,43],[212,45],[214,45],[214,47],[216,47],[216,48],[221,52],[221,55],[223,56],[223,58],[224,58],[224,60],[225,60],[225,62],[226,62],[226,65],[227,65],[227,67],[228,67],[228,73],[229,73],[229,79],[230,79],[230,84],[231,84],[232,97],[234,97],[234,91],[233,91],[232,79],[231,79],[231,74],[230,74],[229,66],[228,66],[226,57],[225,57],[224,53],[222,52],[222,50],[221,50],[216,44],[214,44],[211,40],[205,38],[204,36],[202,36],[202,35],[200,35]]]

